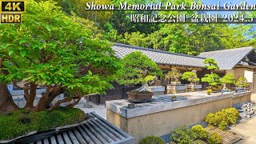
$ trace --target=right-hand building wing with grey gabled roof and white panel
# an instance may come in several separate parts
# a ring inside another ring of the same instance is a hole
[[[256,53],[254,47],[204,52],[202,58],[214,58],[220,70],[234,74],[234,78],[245,77],[251,90],[256,92]]]

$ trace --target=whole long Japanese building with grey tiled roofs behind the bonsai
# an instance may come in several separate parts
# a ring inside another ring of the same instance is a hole
[[[220,68],[220,70],[215,70],[215,73],[218,73],[221,77],[225,74],[234,74],[234,78],[240,76],[245,77],[250,83],[250,90],[254,93],[256,92],[256,54],[254,47],[251,46],[204,52],[198,56],[175,54],[168,51],[130,46],[121,43],[114,43],[112,49],[118,58],[123,58],[126,54],[130,54],[134,51],[141,51],[158,64],[163,74],[166,74],[172,66],[175,66],[181,73],[197,70],[198,78],[202,78],[205,74],[210,73],[210,71],[206,70],[204,67],[203,61],[206,58],[214,58]],[[182,81],[182,83],[188,84],[189,82]],[[200,82],[200,84],[202,84],[202,90],[206,90],[207,83]],[[106,100],[126,98],[126,92],[134,89],[119,86],[116,83],[114,83],[114,87],[115,89],[108,90],[106,95],[90,97],[94,98],[91,100],[95,103],[104,103]]]

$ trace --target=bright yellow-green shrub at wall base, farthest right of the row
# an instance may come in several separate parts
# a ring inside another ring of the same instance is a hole
[[[214,114],[206,115],[206,122],[210,125],[218,126],[221,130],[225,130],[230,124],[235,124],[238,121],[239,112],[234,108],[222,109]]]

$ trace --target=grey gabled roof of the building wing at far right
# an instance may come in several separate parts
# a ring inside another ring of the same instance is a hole
[[[220,70],[232,70],[234,66],[238,65],[246,55],[250,54],[254,47],[242,47],[229,50],[217,50],[204,52],[199,54],[199,57],[214,58],[218,62]]]

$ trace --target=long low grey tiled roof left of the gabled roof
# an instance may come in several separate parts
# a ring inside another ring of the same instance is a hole
[[[151,58],[154,62],[163,65],[203,67],[202,61],[205,59],[186,54],[175,54],[167,51],[153,50],[120,43],[114,43],[112,49],[115,51],[115,54],[118,58],[123,58],[126,54],[130,54],[134,51],[141,51],[143,54],[146,54],[149,58]]]

